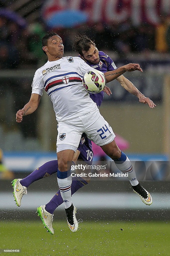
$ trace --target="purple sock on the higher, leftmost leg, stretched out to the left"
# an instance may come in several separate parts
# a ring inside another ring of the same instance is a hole
[[[53,173],[57,173],[57,169],[58,169],[58,161],[57,160],[49,161],[43,164],[42,166],[40,166],[39,168],[37,168],[26,178],[22,179],[20,183],[22,186],[25,186],[26,188],[28,188],[28,186],[34,181],[48,177]]]

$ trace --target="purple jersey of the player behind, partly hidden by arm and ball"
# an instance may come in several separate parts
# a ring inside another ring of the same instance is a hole
[[[100,62],[99,64],[96,64],[96,65],[91,64],[88,61],[86,63],[90,67],[95,68],[103,73],[117,69],[113,60],[103,51],[99,51],[99,59],[100,59]],[[102,91],[96,94],[93,94],[93,93],[89,93],[89,94],[90,94],[90,98],[96,103],[97,107],[100,108],[103,101],[104,92]]]

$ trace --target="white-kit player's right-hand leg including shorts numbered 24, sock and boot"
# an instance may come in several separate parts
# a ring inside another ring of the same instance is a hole
[[[93,120],[93,124],[91,124],[91,120]],[[128,173],[128,179],[134,192],[140,196],[144,204],[151,205],[151,195],[139,184],[129,158],[116,145],[114,141],[116,135],[100,112],[86,115],[84,117],[84,123],[87,124],[86,131],[89,139],[101,146],[103,151],[114,160],[120,171]]]

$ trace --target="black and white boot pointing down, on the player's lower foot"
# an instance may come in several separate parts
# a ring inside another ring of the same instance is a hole
[[[76,213],[77,213],[76,207],[72,204],[69,208],[65,209],[65,211],[67,216],[67,225],[69,229],[72,232],[76,232],[78,230],[78,225],[79,225],[76,219]]]

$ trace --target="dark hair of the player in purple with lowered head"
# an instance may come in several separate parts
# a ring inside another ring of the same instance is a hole
[[[77,51],[81,56],[83,56],[82,51],[88,52],[91,45],[95,46],[94,41],[92,41],[85,34],[78,34],[74,39],[72,49]]]

